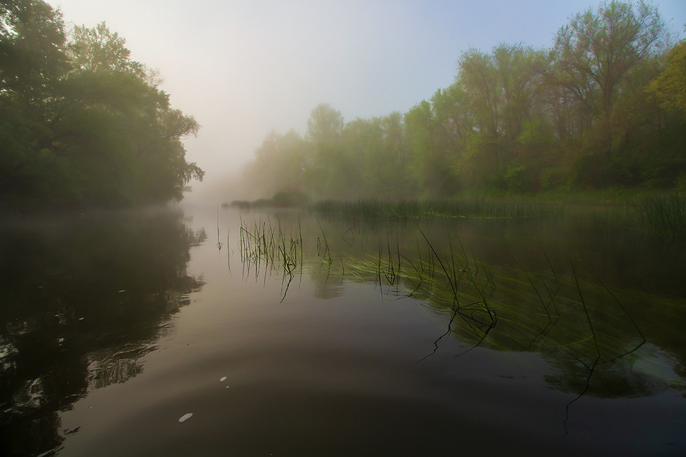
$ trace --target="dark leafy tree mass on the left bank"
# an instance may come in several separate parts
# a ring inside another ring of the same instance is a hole
[[[181,199],[203,171],[180,138],[199,125],[105,23],[65,29],[40,0],[0,2],[3,206]]]

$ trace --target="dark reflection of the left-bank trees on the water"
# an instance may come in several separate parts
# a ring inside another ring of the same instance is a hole
[[[180,212],[91,212],[0,227],[3,455],[60,446],[58,412],[143,369],[171,314],[202,281],[186,272]]]

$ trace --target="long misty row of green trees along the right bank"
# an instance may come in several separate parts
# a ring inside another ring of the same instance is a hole
[[[405,114],[272,132],[244,173],[263,196],[447,197],[640,186],[686,189],[686,42],[657,8],[602,3],[550,49],[469,49],[455,82]]]

